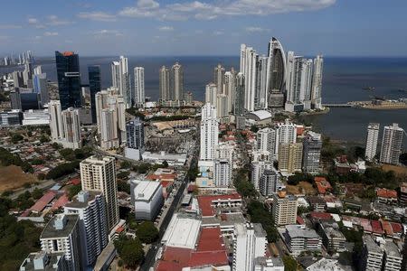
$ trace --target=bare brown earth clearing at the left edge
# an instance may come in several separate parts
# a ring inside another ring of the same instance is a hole
[[[31,173],[24,173],[19,166],[0,166],[0,193],[20,188],[24,183],[33,182],[37,182],[36,177]]]

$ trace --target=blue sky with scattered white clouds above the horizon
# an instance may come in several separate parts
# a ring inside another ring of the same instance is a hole
[[[407,56],[407,1],[14,0],[2,4],[0,56],[76,51],[80,56],[266,53]],[[6,11],[6,12],[5,12]]]

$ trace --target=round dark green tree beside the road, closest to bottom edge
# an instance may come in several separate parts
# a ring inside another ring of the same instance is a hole
[[[143,246],[138,238],[128,238],[120,235],[115,241],[115,248],[123,264],[129,268],[136,268],[144,259]]]

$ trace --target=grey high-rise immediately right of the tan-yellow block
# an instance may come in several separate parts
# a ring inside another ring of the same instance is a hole
[[[321,149],[322,138],[321,134],[309,131],[303,140],[303,170],[305,173],[317,174],[320,172],[321,165]]]

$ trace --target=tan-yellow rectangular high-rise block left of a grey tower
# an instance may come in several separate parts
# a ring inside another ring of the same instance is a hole
[[[301,172],[302,143],[279,144],[279,171],[289,174]]]

